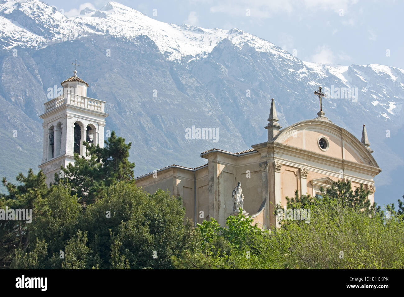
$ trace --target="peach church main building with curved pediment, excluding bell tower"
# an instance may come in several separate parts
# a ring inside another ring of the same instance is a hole
[[[286,207],[286,196],[295,196],[296,190],[321,195],[320,187],[326,189],[333,181],[350,180],[353,188],[362,183],[374,202],[373,178],[381,169],[371,155],[365,126],[359,141],[320,110],[317,118],[281,130],[272,99],[265,128],[268,141],[249,150],[213,148],[200,154],[207,160],[203,166],[167,166],[137,177],[136,183],[149,193],[168,189],[182,197],[186,218],[196,223],[215,218],[222,226],[233,213],[232,192],[239,182],[244,210],[263,228],[279,225],[274,210],[277,204]]]

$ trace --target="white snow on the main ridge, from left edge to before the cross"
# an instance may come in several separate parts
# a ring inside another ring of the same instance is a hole
[[[244,44],[248,44],[257,51],[298,61],[275,44],[239,29],[205,29],[187,24],[164,23],[114,1],[108,2],[97,11],[84,9],[78,16],[66,17],[55,7],[39,0],[9,0],[0,4],[0,15],[5,15],[7,18],[7,14],[14,9],[22,11],[29,18],[43,25],[52,35],[52,41],[72,40],[102,32],[128,39],[146,35],[170,60],[181,60],[189,56],[195,59],[205,57],[217,43],[227,38],[240,49]],[[8,44],[7,48],[18,45],[46,46],[46,40],[49,40],[47,36],[29,33],[29,28],[25,28],[25,31],[27,31],[26,34],[22,33],[21,38],[11,33],[6,36],[7,33],[4,33],[4,40],[6,40],[4,44]]]

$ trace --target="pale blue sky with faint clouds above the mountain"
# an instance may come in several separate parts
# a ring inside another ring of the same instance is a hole
[[[108,1],[45,0],[67,16]],[[118,0],[166,23],[242,29],[303,61],[379,63],[404,69],[404,1],[394,0]]]

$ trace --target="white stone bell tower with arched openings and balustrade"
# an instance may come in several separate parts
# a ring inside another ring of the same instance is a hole
[[[105,101],[88,98],[88,84],[74,76],[61,82],[63,94],[44,103],[42,164],[46,183],[55,181],[60,166],[74,163],[74,154],[86,156],[83,141],[104,146]]]

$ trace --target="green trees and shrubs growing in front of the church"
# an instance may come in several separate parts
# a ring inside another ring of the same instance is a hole
[[[251,217],[184,224],[181,197],[137,187],[131,143],[111,137],[86,146],[48,187],[40,171],[3,179],[0,209],[30,209],[32,220],[0,220],[0,265],[30,269],[364,269],[404,268],[404,203],[370,205],[369,192],[336,181],[322,197],[286,197],[310,220],[263,230]],[[403,196],[404,198],[404,196]],[[276,206],[275,214],[281,209]],[[388,216],[387,216],[388,214]]]

